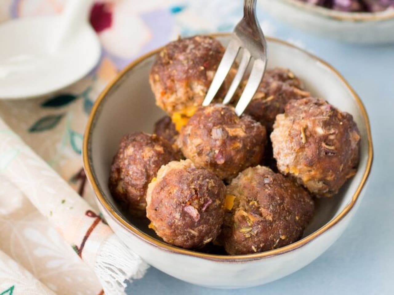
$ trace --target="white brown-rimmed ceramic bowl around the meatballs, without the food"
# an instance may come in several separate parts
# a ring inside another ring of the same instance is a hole
[[[226,44],[228,35],[216,35]],[[127,217],[108,190],[112,157],[121,137],[134,131],[152,133],[164,115],[155,105],[148,76],[158,50],[137,59],[100,95],[84,137],[84,166],[100,210],[123,242],[143,260],[165,273],[202,286],[243,288],[284,277],[312,262],[342,234],[360,203],[372,165],[368,116],[357,94],[342,76],[317,57],[286,42],[268,39],[268,68],[290,68],[312,94],[350,112],[361,133],[361,161],[355,177],[338,195],[317,201],[314,219],[302,240],[264,253],[229,256],[199,253],[169,245],[148,229],[147,222]]]

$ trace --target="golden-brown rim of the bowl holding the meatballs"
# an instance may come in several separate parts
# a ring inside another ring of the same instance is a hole
[[[216,33],[216,34],[210,34],[212,37],[226,37],[229,36],[229,33]],[[361,110],[361,114],[363,119],[365,120],[366,123],[366,131],[367,131],[367,140],[368,140],[368,160],[366,164],[366,168],[364,171],[364,174],[362,176],[361,182],[359,183],[359,186],[357,187],[357,190],[355,194],[353,195],[350,203],[346,205],[346,207],[336,216],[334,219],[323,225],[323,227],[320,227],[320,229],[316,230],[309,236],[306,236],[305,238],[294,242],[290,245],[278,248],[278,249],[273,249],[269,250],[266,252],[260,252],[260,253],[253,253],[253,254],[243,254],[243,255],[218,255],[218,254],[208,254],[208,253],[200,253],[188,249],[183,249],[180,247],[176,247],[170,244],[167,244],[163,241],[160,241],[156,238],[153,238],[149,236],[148,234],[142,232],[139,230],[137,227],[134,227],[131,223],[129,223],[126,219],[121,217],[117,212],[115,211],[114,208],[110,205],[110,203],[106,200],[106,197],[104,194],[101,192],[99,185],[95,179],[95,174],[93,172],[93,168],[91,167],[91,162],[89,160],[89,154],[90,154],[90,148],[89,148],[89,142],[90,142],[90,136],[92,134],[93,126],[94,126],[94,121],[96,118],[97,111],[100,109],[101,103],[104,101],[106,98],[108,92],[113,88],[114,85],[116,85],[122,78],[125,76],[127,72],[132,70],[136,65],[139,63],[145,61],[147,58],[151,57],[152,55],[155,55],[158,53],[161,48],[158,48],[156,50],[153,50],[149,53],[146,53],[145,55],[142,55],[138,59],[132,61],[128,66],[126,66],[108,85],[107,87],[101,92],[100,96],[97,98],[95,101],[93,108],[91,110],[91,113],[89,115],[89,119],[85,128],[85,134],[84,134],[84,142],[83,142],[83,162],[84,162],[84,168],[85,168],[85,173],[87,175],[87,179],[89,180],[89,183],[91,184],[93,191],[95,192],[95,195],[97,199],[99,200],[100,204],[107,210],[107,212],[119,223],[122,225],[125,229],[127,229],[131,234],[134,234],[136,237],[142,239],[143,241],[155,246],[159,247],[165,251],[169,251],[172,253],[177,253],[177,254],[183,254],[183,255],[188,255],[188,256],[193,256],[196,258],[205,258],[208,260],[216,260],[216,261],[221,261],[221,262],[241,262],[241,261],[247,261],[247,260],[256,260],[260,258],[268,258],[271,256],[276,256],[279,254],[284,254],[289,251],[293,251],[299,247],[302,247],[303,245],[306,245],[307,243],[311,242],[312,240],[315,240],[318,236],[322,235],[324,232],[327,230],[331,229],[334,225],[336,225],[339,221],[341,221],[349,212],[350,210],[354,207],[356,201],[359,199],[359,195],[362,191],[362,188],[364,187],[366,180],[368,179],[368,176],[370,175],[370,170],[373,162],[373,146],[372,146],[372,135],[371,135],[371,129],[370,129],[370,123],[368,119],[368,114],[366,112],[366,109],[359,98],[359,96],[356,94],[356,92],[350,87],[349,83],[342,77],[342,75],[335,69],[333,66],[329,65],[319,57],[316,57],[315,55],[298,48],[297,46],[294,46],[293,44],[290,44],[288,42],[282,41],[280,39],[276,38],[271,38],[267,37],[267,40],[270,42],[277,42],[279,44],[283,44],[285,46],[290,46],[292,48],[295,48],[311,57],[312,59],[315,59],[316,61],[319,61],[323,65],[327,66],[334,74],[336,74],[340,80],[345,84],[345,86],[350,90],[351,94],[353,95],[354,100],[356,101],[357,105],[359,106]]]

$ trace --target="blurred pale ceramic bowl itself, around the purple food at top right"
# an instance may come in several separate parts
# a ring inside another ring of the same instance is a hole
[[[323,37],[364,44],[394,42],[394,9],[350,13],[299,0],[260,0],[260,4],[284,22]]]

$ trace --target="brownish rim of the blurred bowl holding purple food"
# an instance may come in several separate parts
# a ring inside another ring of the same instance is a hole
[[[309,13],[315,13],[322,17],[349,21],[349,22],[370,22],[370,21],[383,21],[394,19],[394,9],[386,9],[384,11],[377,12],[346,12],[338,11],[334,9],[329,9],[327,7],[318,6],[312,3],[302,2],[300,0],[276,0],[282,3],[287,3],[291,6],[297,7],[298,9],[303,9]]]

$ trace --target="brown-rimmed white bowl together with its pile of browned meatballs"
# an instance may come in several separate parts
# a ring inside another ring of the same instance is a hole
[[[372,166],[368,116],[330,65],[268,38],[269,62],[242,116],[245,82],[202,107],[229,35],[170,42],[100,95],[84,166],[108,224],[143,260],[212,288],[245,288],[312,262],[344,232]],[[247,75],[245,75],[245,81]]]

